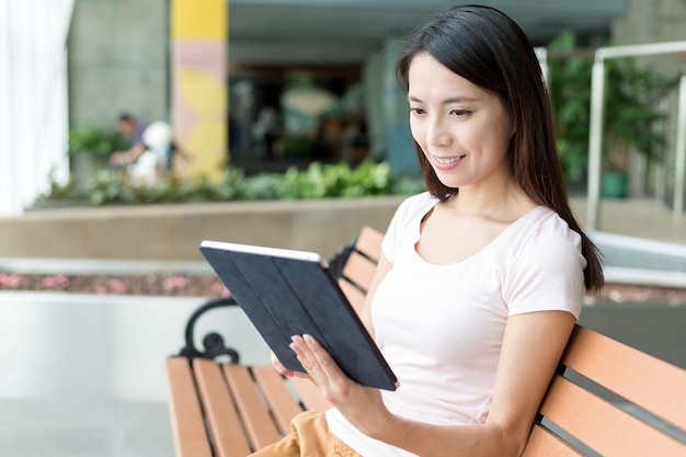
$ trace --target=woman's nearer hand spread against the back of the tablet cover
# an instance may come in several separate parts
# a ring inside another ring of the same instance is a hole
[[[329,400],[361,432],[377,437],[392,414],[378,389],[362,386],[343,373],[331,355],[311,335],[291,338],[290,349],[302,368]]]

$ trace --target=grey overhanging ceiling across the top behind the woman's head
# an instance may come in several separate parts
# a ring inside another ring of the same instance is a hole
[[[237,68],[359,66],[448,0],[227,0],[229,61]],[[472,2],[473,3],[473,2]],[[480,1],[511,15],[535,46],[562,30],[605,38],[626,0]]]

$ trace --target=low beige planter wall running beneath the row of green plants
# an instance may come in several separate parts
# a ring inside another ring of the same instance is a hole
[[[364,225],[385,231],[402,198],[32,210],[0,218],[0,258],[197,261],[204,239],[329,256]]]

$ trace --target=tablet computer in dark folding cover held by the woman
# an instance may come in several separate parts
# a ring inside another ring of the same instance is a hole
[[[286,368],[305,373],[288,345],[308,333],[351,379],[395,390],[396,376],[319,254],[210,240],[199,250]]]

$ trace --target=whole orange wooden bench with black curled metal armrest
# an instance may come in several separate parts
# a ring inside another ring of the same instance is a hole
[[[332,261],[356,308],[381,238],[364,228]],[[239,364],[217,334],[205,338],[205,351],[195,349],[197,317],[231,304],[215,300],[196,311],[186,346],[165,362],[176,457],[243,457],[287,433],[298,412],[329,408],[308,381],[283,378],[271,366]],[[215,361],[219,355],[231,361]],[[686,370],[576,325],[524,456],[686,456]]]

